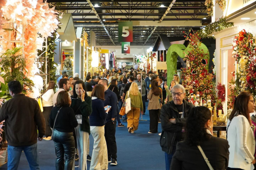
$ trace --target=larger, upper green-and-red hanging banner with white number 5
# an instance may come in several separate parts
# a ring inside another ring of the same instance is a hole
[[[118,22],[118,41],[132,42],[132,21]]]

